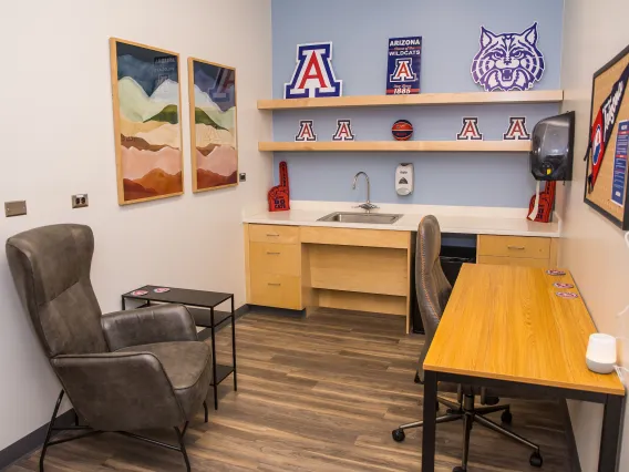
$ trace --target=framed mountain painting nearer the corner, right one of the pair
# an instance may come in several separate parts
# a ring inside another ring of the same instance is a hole
[[[188,59],[193,191],[238,185],[236,70]]]

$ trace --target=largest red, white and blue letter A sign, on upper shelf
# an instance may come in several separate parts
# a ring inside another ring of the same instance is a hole
[[[341,96],[342,90],[343,81],[337,80],[332,69],[331,42],[297,47],[297,66],[285,84],[285,99]]]

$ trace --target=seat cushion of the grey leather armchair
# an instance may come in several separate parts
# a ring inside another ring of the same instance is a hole
[[[205,401],[212,377],[212,351],[205,342],[155,342],[116,351],[122,352],[149,352],[159,359],[186,418]]]

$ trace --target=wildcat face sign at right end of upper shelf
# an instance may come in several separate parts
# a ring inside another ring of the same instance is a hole
[[[481,27],[481,50],[472,61],[472,79],[486,92],[533,88],[545,69],[537,39],[537,23],[522,33],[494,34]]]

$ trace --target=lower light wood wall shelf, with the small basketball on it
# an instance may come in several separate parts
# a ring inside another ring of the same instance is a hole
[[[261,142],[259,151],[288,152],[529,152],[530,141]]]

